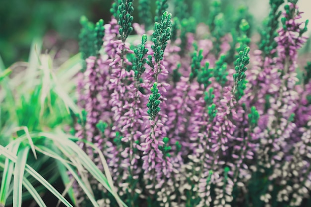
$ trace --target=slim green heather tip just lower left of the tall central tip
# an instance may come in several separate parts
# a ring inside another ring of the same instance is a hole
[[[145,47],[147,42],[147,35],[144,34],[142,36],[142,43],[137,48],[134,49],[135,58],[133,60],[133,67],[132,69],[135,72],[135,80],[139,81],[141,75],[145,72],[145,63],[147,62],[147,59],[145,58],[148,49]]]

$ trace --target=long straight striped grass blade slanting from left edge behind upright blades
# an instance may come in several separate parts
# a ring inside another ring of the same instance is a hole
[[[17,161],[16,155],[10,153],[5,147],[0,145],[1,153],[13,162]],[[44,179],[37,171],[31,166],[26,164],[25,170],[42,185],[44,185],[56,198],[58,198],[66,207],[73,207],[46,179]]]

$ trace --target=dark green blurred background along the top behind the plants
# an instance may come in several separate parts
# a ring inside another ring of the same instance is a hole
[[[169,0],[171,3],[173,0]],[[203,5],[202,21],[208,17],[209,4],[213,0],[186,0],[188,10],[193,11],[195,1]],[[224,13],[234,12],[245,5],[253,15],[253,32],[261,27],[268,15],[269,0],[221,0]],[[29,48],[34,39],[43,41],[44,50],[57,51],[60,56],[71,56],[78,52],[79,19],[82,15],[92,22],[104,19],[108,22],[113,0],[0,0],[0,56],[6,67],[16,61],[28,59]],[[311,19],[311,0],[299,0],[298,5],[306,13],[303,20]],[[134,0],[137,8],[138,0]],[[153,14],[156,6],[152,0]],[[173,6],[169,11],[173,12]],[[137,9],[134,21],[138,21]],[[311,30],[311,25],[309,29]],[[309,30],[309,34],[310,34]]]

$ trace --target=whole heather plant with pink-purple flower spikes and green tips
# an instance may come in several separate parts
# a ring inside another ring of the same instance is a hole
[[[214,1],[202,35],[184,1],[173,3],[175,17],[166,0],[156,1],[150,32],[150,5],[139,1],[145,27],[134,31],[141,41],[127,38],[132,1],[114,4],[104,52],[86,59],[94,73],[81,81],[100,81],[85,82],[80,97],[86,106],[94,102],[85,107],[86,123],[97,128],[80,131],[80,140],[101,149],[127,206],[308,206],[311,67],[298,84],[308,21],[300,21],[297,1],[270,0],[257,45],[246,7],[228,29],[221,1]],[[85,96],[91,88],[92,99]],[[93,150],[87,153],[98,163]],[[116,206],[96,183],[101,206]]]

